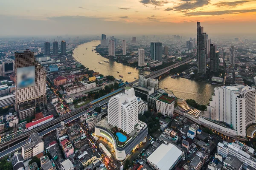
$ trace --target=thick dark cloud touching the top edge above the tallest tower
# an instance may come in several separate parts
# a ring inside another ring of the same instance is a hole
[[[182,3],[178,3],[177,6],[173,7],[175,11],[186,12],[198,7],[206,6],[210,3],[210,0],[185,0]]]

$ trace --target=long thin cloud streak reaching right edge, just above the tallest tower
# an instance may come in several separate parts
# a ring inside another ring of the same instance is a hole
[[[196,11],[187,12],[185,15],[188,16],[200,16],[200,15],[224,15],[224,14],[240,14],[246,12],[256,12],[256,9],[242,9],[242,10],[225,10],[225,11]]]

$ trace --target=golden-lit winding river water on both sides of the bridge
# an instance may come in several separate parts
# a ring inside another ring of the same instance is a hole
[[[77,61],[81,62],[85,67],[90,68],[90,70],[94,70],[96,68],[95,71],[100,74],[105,76],[111,75],[117,79],[123,79],[128,82],[133,82],[135,80],[134,77],[138,79],[139,75],[142,73],[149,74],[148,71],[122,65],[121,63],[117,63],[97,55],[95,51],[92,51],[92,49],[94,49],[93,46],[97,46],[99,44],[100,41],[96,40],[79,45],[73,51],[73,57]],[[105,60],[109,63],[104,62]],[[102,62],[102,64],[99,62]],[[128,72],[131,72],[131,74],[128,74]],[[119,77],[119,75],[122,75],[123,78]],[[207,84],[205,82],[198,82],[184,78],[172,79],[170,76],[161,78],[159,82],[159,88],[168,88],[168,90],[172,91],[178,98],[194,99],[200,104],[207,104],[209,102],[215,87],[217,86]]]

